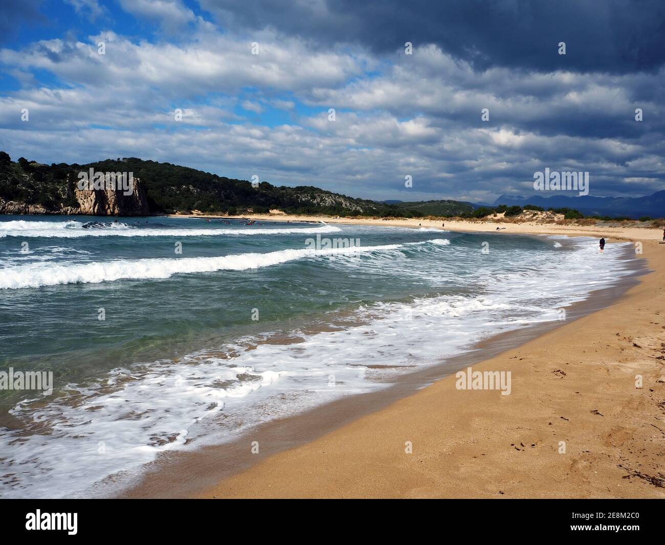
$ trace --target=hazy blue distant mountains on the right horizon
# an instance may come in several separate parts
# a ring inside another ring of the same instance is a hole
[[[652,218],[665,217],[665,190],[644,197],[592,197],[589,195],[567,197],[554,195],[551,197],[530,196],[520,197],[512,195],[501,195],[492,206],[505,204],[507,206],[541,206],[548,208],[572,208],[579,210],[585,216],[628,216],[629,218],[640,218],[650,216]]]

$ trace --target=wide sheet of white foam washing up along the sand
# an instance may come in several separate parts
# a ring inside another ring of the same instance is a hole
[[[456,251],[456,246],[437,249],[442,239],[436,241],[428,241],[430,248],[426,243],[410,248],[433,255]],[[595,259],[597,250],[589,242],[569,239],[565,250],[549,251],[517,271],[493,272],[496,262],[489,269],[473,267],[472,294],[360,306],[345,320],[358,325],[295,331],[298,343],[239,339],[216,353],[137,363],[92,383],[67,385],[46,405],[25,400],[11,411],[23,429],[0,431],[0,496],[90,496],[93,485],[94,494],[113,492],[122,479],[113,478],[107,482],[111,488],[104,488],[104,478],[139,472],[162,451],[226,441],[262,421],[384,388],[389,375],[400,372],[374,367],[426,367],[491,335],[556,320],[559,308],[628,273],[620,252]],[[388,248],[371,254],[374,262],[391,252],[402,254],[403,246],[365,250]]]

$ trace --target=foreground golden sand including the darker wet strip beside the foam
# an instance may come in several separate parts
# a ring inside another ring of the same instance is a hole
[[[163,457],[123,495],[662,497],[662,251],[644,243],[656,272],[608,308],[575,319],[610,305],[620,290],[595,293],[557,329],[560,323],[501,335],[400,377],[387,391],[268,423],[230,444]],[[454,376],[437,381],[467,365],[511,371],[511,395],[460,391]]]

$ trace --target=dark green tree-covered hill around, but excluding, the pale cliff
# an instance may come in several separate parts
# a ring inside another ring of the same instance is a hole
[[[339,216],[413,216],[403,207],[356,199],[313,186],[273,186],[235,180],[194,168],[142,160],[107,159],[88,164],[39,164],[21,157],[13,162],[0,152],[0,199],[39,205],[47,213],[72,213],[76,208],[78,173],[132,172],[140,178],[152,214],[200,212],[235,214],[251,209],[267,212],[279,208],[293,214]],[[66,211],[65,211],[66,210]]]

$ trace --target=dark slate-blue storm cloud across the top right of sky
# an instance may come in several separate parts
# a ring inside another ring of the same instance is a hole
[[[271,28],[374,53],[434,43],[476,70],[630,73],[665,63],[662,0],[201,0],[227,29]],[[558,55],[565,42],[567,55]]]

